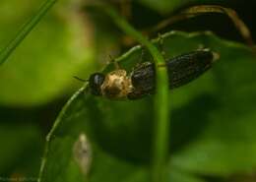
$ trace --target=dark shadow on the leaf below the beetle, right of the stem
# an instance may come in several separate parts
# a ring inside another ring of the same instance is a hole
[[[219,107],[210,94],[195,97],[189,104],[171,113],[170,149],[176,152],[195,140],[209,124],[209,113]]]

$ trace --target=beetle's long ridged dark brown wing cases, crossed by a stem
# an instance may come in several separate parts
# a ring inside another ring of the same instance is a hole
[[[208,49],[195,50],[166,60],[169,89],[178,88],[197,79],[209,70],[218,55]],[[134,91],[129,99],[138,99],[156,90],[155,63],[145,62],[136,67],[131,74]]]

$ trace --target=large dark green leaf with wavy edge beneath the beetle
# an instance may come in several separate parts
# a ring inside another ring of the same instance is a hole
[[[171,91],[173,123],[166,181],[202,181],[193,173],[229,175],[256,165],[256,57],[250,48],[210,32],[163,35],[166,58],[202,45],[218,52],[221,59],[196,81]],[[141,47],[136,46],[117,61],[131,71],[140,56]],[[144,60],[151,60],[149,53]],[[107,65],[103,72],[112,69]],[[91,95],[84,86],[68,101],[47,137],[40,181],[149,181],[153,97],[113,101]],[[84,135],[91,151],[78,160],[74,148]],[[83,158],[92,163],[81,163]]]

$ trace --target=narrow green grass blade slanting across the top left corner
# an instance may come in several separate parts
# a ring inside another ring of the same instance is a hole
[[[40,22],[42,17],[48,10],[56,3],[57,0],[45,0],[37,13],[32,16],[32,19],[26,23],[15,37],[7,44],[7,46],[0,52],[0,65],[2,65],[17,46],[24,40],[24,38],[32,31],[32,29]]]

